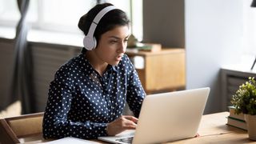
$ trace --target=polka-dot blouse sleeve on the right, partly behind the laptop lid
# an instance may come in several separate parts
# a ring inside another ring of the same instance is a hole
[[[134,69],[133,64],[128,59],[128,67],[130,74],[128,74],[128,88],[127,88],[127,103],[130,107],[130,110],[133,111],[134,116],[138,118],[142,107],[142,101],[146,96],[146,93],[142,87],[142,83],[138,78],[138,73]]]

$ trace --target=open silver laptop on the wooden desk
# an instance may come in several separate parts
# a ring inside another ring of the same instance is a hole
[[[98,137],[111,143],[160,143],[194,138],[210,88],[147,95],[142,102],[136,130]]]

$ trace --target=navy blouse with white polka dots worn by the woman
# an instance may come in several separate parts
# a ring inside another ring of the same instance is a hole
[[[138,117],[145,91],[130,59],[107,66],[100,76],[82,54],[70,59],[50,82],[43,118],[44,138],[97,138],[122,115],[126,102]]]

